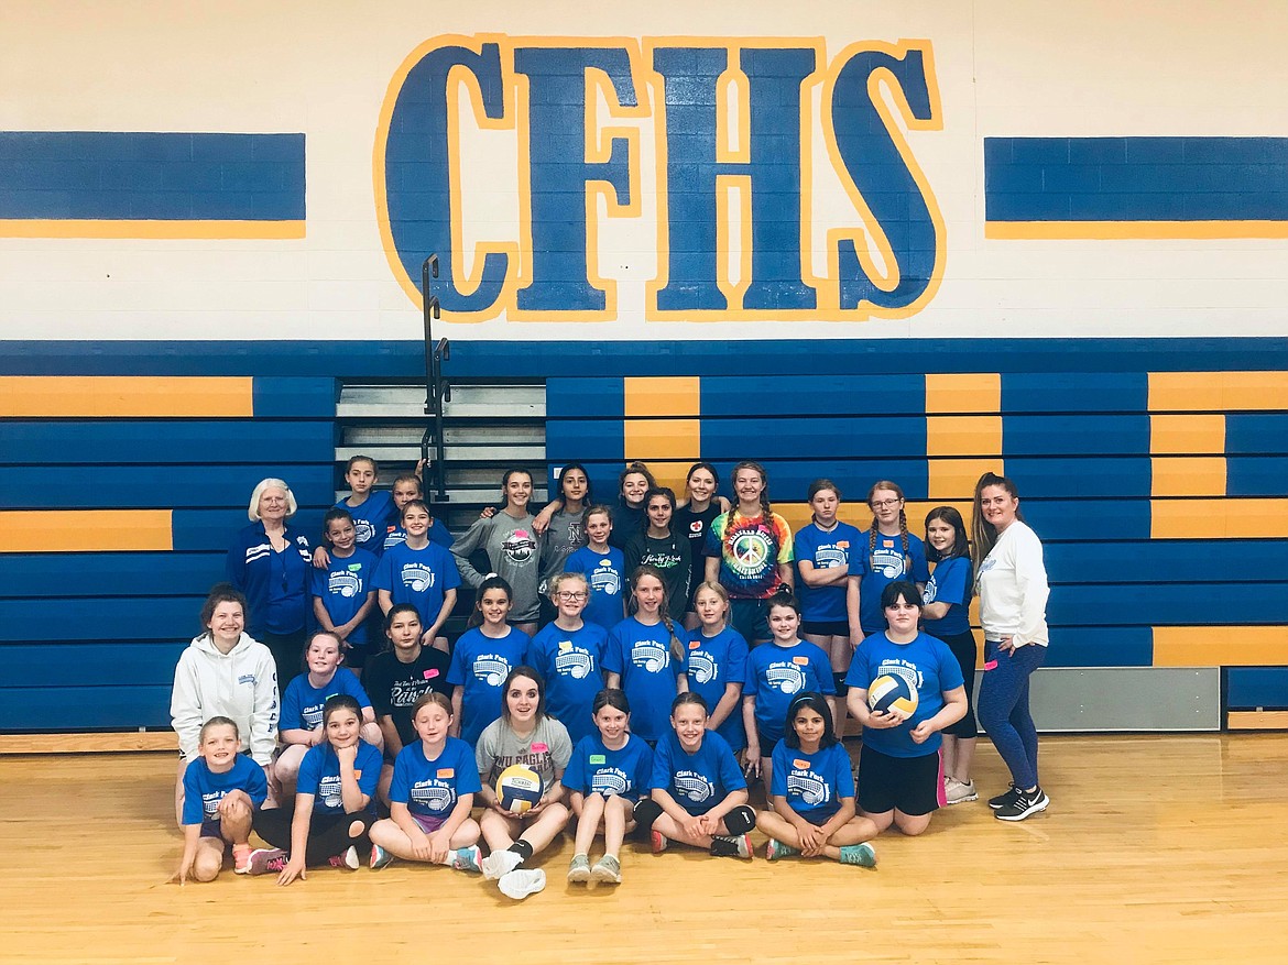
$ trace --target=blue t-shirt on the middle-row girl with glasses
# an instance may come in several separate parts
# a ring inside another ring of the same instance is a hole
[[[604,688],[608,630],[583,621],[580,630],[546,624],[528,645],[528,664],[546,682],[546,712],[568,728],[573,744],[595,732],[590,708]]]

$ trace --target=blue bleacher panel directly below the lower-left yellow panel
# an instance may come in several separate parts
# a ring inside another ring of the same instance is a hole
[[[232,530],[227,542],[232,542]],[[0,555],[0,585],[5,588],[5,596],[12,597],[187,596],[223,578],[223,549],[201,553]]]

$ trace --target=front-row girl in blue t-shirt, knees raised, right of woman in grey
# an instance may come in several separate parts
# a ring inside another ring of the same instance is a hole
[[[630,732],[631,705],[620,690],[601,690],[591,705],[599,733],[573,748],[564,771],[564,787],[577,816],[577,836],[568,880],[621,884],[622,839],[635,829],[632,809],[648,793],[653,776],[653,751]],[[604,829],[604,857],[590,865],[595,831]]]

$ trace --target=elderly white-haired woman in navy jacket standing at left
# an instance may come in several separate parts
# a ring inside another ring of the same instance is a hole
[[[298,510],[290,486],[264,479],[250,494],[250,525],[228,551],[228,582],[246,596],[246,633],[268,646],[277,686],[300,670],[309,609],[313,548],[286,520]]]

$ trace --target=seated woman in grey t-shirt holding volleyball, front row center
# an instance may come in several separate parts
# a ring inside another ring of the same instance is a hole
[[[510,898],[527,898],[546,887],[545,871],[522,866],[568,823],[560,781],[571,758],[568,730],[546,714],[541,674],[531,666],[514,668],[505,679],[501,718],[488,724],[474,750],[486,808],[479,829],[492,850],[483,858],[483,875]],[[524,812],[509,811],[496,793],[497,778],[513,764],[541,778],[541,798]]]

